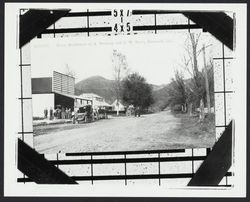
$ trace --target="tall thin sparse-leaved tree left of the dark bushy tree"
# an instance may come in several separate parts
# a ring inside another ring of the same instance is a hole
[[[126,56],[122,53],[119,53],[117,50],[113,50],[112,63],[114,69],[114,91],[117,99],[117,116],[119,115],[119,103],[121,100],[122,92],[122,79],[128,73],[128,64]]]

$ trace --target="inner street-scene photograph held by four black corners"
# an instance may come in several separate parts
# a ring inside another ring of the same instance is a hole
[[[34,148],[211,148],[213,40],[200,31],[34,39]]]

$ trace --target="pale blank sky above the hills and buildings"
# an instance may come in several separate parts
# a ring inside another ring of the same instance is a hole
[[[206,43],[210,40],[207,36],[203,38]],[[68,66],[76,73],[76,82],[97,75],[114,79],[112,54],[117,50],[125,55],[130,72],[138,72],[152,84],[167,84],[174,77],[174,70],[182,68],[186,39],[186,33],[177,32],[34,39],[31,42],[32,77],[51,76],[53,70],[65,73]],[[202,66],[202,57],[198,59]],[[185,77],[189,76],[184,73]]]

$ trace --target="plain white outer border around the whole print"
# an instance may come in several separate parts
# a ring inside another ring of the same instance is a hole
[[[82,5],[82,4],[81,4]],[[6,3],[5,4],[5,112],[17,110],[16,93],[19,89],[13,80],[19,75],[16,39],[17,16],[21,8],[68,8],[78,7],[78,3]],[[16,124],[9,113],[5,113],[4,136],[4,195],[5,196],[143,196],[143,197],[245,197],[246,196],[246,4],[84,4],[89,9],[128,8],[166,10],[206,10],[233,11],[236,13],[236,64],[235,76],[235,183],[228,189],[191,188],[167,189],[151,186],[103,187],[80,185],[37,185],[18,184],[16,179]],[[16,59],[15,59],[16,58]],[[10,79],[11,78],[11,79]],[[238,105],[237,103],[239,103]],[[237,104],[237,105],[236,105]],[[242,118],[244,117],[244,118]],[[237,134],[240,134],[237,136]]]

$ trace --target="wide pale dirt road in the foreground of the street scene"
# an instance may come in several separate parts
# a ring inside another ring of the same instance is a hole
[[[135,117],[111,117],[88,124],[61,125],[34,137],[41,153],[128,151],[207,147],[204,137],[178,134],[181,119],[171,112]],[[46,131],[46,128],[44,128]],[[40,128],[42,131],[43,129]],[[211,146],[211,145],[210,145]]]

